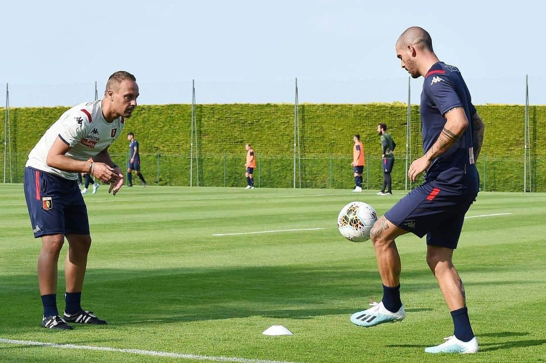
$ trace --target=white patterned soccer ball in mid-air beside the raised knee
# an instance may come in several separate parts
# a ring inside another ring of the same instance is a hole
[[[370,204],[351,202],[341,209],[337,216],[337,227],[343,237],[351,242],[365,242],[370,239],[377,213]]]

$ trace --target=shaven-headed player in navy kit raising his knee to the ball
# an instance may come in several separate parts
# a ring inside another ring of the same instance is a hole
[[[426,172],[425,181],[373,225],[370,238],[383,282],[383,299],[353,314],[351,321],[373,326],[405,317],[400,301],[400,256],[394,240],[410,232],[418,237],[426,234],[426,261],[451,311],[454,333],[425,352],[475,353],[478,341],[468,318],[465,288],[452,257],[465,213],[478,195],[479,177],[474,163],[482,147],[484,125],[460,71],[438,60],[428,32],[408,28],[396,42],[396,55],[413,78],[425,78],[420,105],[424,155],[408,170],[412,181]]]

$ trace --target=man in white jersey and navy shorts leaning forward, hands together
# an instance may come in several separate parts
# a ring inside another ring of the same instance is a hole
[[[64,112],[31,150],[25,167],[25,197],[34,237],[41,237],[38,283],[44,316],[41,326],[72,329],[67,322],[106,324],[80,305],[87,253],[91,247],[87,208],[77,174],[87,172],[116,193],[123,172],[110,159],[108,147],[121,135],[125,118],[136,107],[136,78],[117,71],[108,78],[104,98]],[[68,254],[64,264],[66,308],[59,316],[56,302],[57,262],[64,238]]]

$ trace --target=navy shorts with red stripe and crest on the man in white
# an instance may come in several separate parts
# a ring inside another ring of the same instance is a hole
[[[26,167],[23,187],[34,238],[89,234],[87,207],[76,180]]]

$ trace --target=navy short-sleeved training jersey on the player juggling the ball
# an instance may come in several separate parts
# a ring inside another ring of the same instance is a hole
[[[435,63],[425,75],[421,93],[423,153],[440,136],[446,124],[444,114],[455,107],[464,108],[468,128],[454,146],[432,161],[427,174],[438,174],[447,170],[449,173],[456,173],[457,170],[465,173],[468,165],[474,167],[472,116],[476,113],[476,107],[472,105],[470,92],[459,69],[443,62]]]

